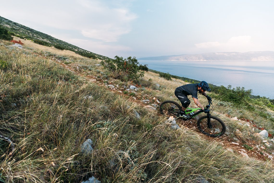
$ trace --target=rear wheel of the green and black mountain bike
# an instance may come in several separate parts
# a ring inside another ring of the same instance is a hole
[[[162,102],[159,108],[161,114],[165,116],[179,117],[181,112],[181,106],[172,100]]]

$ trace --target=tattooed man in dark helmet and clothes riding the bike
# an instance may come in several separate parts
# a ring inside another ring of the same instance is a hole
[[[201,81],[200,83],[187,84],[183,86],[179,86],[176,88],[174,94],[182,103],[182,112],[180,113],[180,117],[188,118],[189,116],[185,114],[185,109],[189,106],[190,100],[187,98],[187,95],[191,95],[194,103],[201,109],[204,107],[198,100],[198,92],[204,95],[207,100],[211,101],[211,97],[209,97],[205,91],[210,91],[209,85],[206,81]]]

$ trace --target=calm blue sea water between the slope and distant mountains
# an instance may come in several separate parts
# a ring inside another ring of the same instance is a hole
[[[253,95],[274,98],[274,61],[138,60],[149,69],[207,81],[216,86],[252,89]]]

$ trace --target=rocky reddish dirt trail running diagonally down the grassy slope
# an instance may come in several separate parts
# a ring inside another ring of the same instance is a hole
[[[143,95],[142,91],[144,89],[151,90],[150,88],[142,88],[141,86],[136,85],[130,85],[129,87],[119,86],[114,84],[115,80],[103,80],[102,78],[98,78],[94,75],[90,75],[87,70],[81,69],[81,65],[69,63],[65,64],[64,60],[59,60],[55,56],[47,56],[45,54],[41,53],[33,53],[36,54],[39,57],[45,57],[47,59],[50,59],[54,61],[55,63],[59,64],[60,66],[68,69],[69,71],[73,72],[76,75],[79,75],[81,77],[84,77],[86,80],[90,82],[97,83],[99,86],[104,86],[105,88],[111,90],[112,92],[115,92],[119,95],[128,95],[129,100],[131,100],[134,103],[138,103],[138,105],[142,105],[144,108],[146,108],[149,111],[157,111],[159,108],[159,105],[163,101],[159,101],[155,96],[151,95]],[[65,61],[69,61],[68,59]],[[100,68],[100,64],[95,64],[95,67]],[[103,74],[103,73],[101,73]],[[160,87],[159,84],[155,84],[156,88]],[[159,90],[156,90],[156,92],[160,92]],[[86,99],[92,98],[92,96],[86,96]],[[140,117],[140,114],[137,111],[134,111],[137,118]],[[216,114],[216,112],[213,112]],[[160,115],[160,114],[159,114]],[[262,129],[261,127],[256,126],[256,124],[250,120],[246,119],[238,119],[237,117],[232,117],[229,115],[226,115],[231,120],[235,120],[238,122],[239,125],[244,125],[250,128],[250,131],[253,131],[254,133],[251,134],[256,137],[257,140],[250,139],[247,142],[242,142],[237,138],[237,136],[241,136],[241,131],[239,129],[236,129],[233,136],[231,136],[230,132],[227,132],[222,137],[218,138],[212,138],[208,137],[206,135],[201,134],[204,138],[206,138],[209,141],[218,141],[223,148],[225,148],[227,151],[231,151],[233,153],[241,154],[243,157],[252,157],[255,159],[263,160],[263,161],[274,161],[274,152],[272,152],[269,148],[270,146],[274,145],[274,139],[269,138],[269,134],[266,130]],[[196,119],[197,120],[197,119]],[[166,124],[170,125],[170,128],[174,130],[179,130],[181,128],[196,128],[196,120],[191,119],[187,122],[175,119],[175,120],[167,120]],[[260,133],[255,133],[255,129],[261,129],[262,131]],[[198,129],[196,129],[197,133],[200,133]],[[270,136],[271,137],[271,136]]]

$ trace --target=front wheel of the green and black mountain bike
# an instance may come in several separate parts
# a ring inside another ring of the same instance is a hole
[[[226,132],[226,125],[218,117],[210,116],[210,124],[212,128],[207,125],[207,116],[202,116],[197,121],[198,129],[210,137],[219,137]]]

